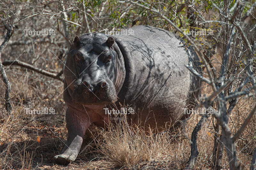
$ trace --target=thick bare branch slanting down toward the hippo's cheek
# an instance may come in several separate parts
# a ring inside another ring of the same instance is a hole
[[[15,61],[4,61],[3,62],[3,65],[4,66],[8,66],[8,65],[16,65],[16,66],[21,66],[21,67],[24,67],[24,68],[28,68],[30,70],[33,70],[37,73],[40,73],[40,74],[43,74],[45,76],[48,76],[48,77],[52,77],[54,79],[57,79],[57,80],[60,80],[62,82],[64,82],[64,80],[62,78],[60,78],[60,76],[63,74],[63,70],[60,71],[60,73],[51,73],[51,72],[48,72],[46,70],[43,70],[43,69],[40,69],[40,68],[36,68],[35,66],[33,65],[30,65],[28,63],[25,63],[25,62],[22,62],[22,61],[19,61],[19,60],[15,60]]]

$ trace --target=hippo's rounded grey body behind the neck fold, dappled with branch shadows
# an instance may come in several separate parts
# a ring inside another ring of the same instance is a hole
[[[137,26],[130,33],[114,35],[126,72],[116,105],[132,104],[136,114],[129,115],[130,120],[142,126],[172,126],[185,118],[185,108],[194,108],[200,94],[201,81],[185,67],[190,50],[193,66],[201,73],[199,58],[184,40],[164,29]]]

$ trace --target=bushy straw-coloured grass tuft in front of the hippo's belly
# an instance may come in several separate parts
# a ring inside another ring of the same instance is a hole
[[[117,125],[108,126],[99,142],[101,152],[109,161],[116,166],[135,166],[144,161],[164,159],[170,154],[175,136],[168,132],[154,134],[153,130],[145,132],[139,127],[132,128],[125,118],[125,115],[116,116]]]

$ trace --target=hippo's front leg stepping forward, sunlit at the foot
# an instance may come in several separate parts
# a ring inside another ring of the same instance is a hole
[[[60,155],[53,159],[61,164],[74,161],[79,154],[86,129],[90,126],[88,116],[83,113],[68,108],[66,111],[66,122],[68,129],[68,139]]]

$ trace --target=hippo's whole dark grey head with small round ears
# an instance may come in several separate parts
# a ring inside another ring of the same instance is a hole
[[[113,37],[101,33],[76,36],[64,68],[74,104],[107,105],[117,101],[124,81],[124,59]]]

